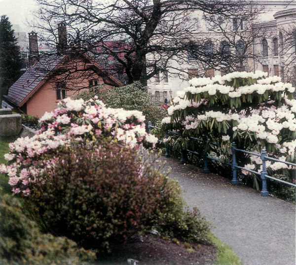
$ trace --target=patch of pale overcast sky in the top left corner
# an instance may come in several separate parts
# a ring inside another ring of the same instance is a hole
[[[0,0],[0,16],[8,16],[10,23],[18,24],[24,32],[29,32],[27,22],[34,20],[36,9],[35,0]]]

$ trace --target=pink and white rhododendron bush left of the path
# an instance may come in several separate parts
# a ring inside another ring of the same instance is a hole
[[[106,108],[97,98],[85,102],[67,98],[40,118],[37,135],[9,144],[8,165],[0,165],[0,172],[9,176],[14,193],[28,195],[30,183],[44,168],[55,166],[59,150],[77,141],[91,144],[107,138],[132,148],[154,145],[157,139],[146,133],[144,120],[141,112]]]

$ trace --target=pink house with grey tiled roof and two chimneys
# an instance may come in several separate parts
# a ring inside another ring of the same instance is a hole
[[[66,34],[64,24],[63,34]],[[60,32],[59,32],[60,35]],[[59,36],[60,38],[60,36]],[[62,40],[66,41],[63,35]],[[29,33],[28,69],[8,90],[4,100],[18,113],[41,117],[45,112],[53,111],[59,101],[74,97],[92,86],[106,84],[105,89],[122,86],[123,83],[110,76],[96,61],[85,52],[61,50],[67,43],[59,44],[58,54],[39,57],[37,34]],[[62,52],[63,51],[63,52]]]

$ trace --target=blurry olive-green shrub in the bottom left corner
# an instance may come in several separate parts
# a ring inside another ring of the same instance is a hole
[[[65,237],[42,234],[37,224],[22,212],[17,198],[3,195],[0,200],[1,265],[86,264],[95,254],[78,248]]]

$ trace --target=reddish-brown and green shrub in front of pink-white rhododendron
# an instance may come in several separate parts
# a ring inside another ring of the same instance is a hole
[[[79,143],[54,159],[55,166],[47,167],[26,198],[47,231],[98,253],[151,228],[163,236],[207,242],[208,225],[197,212],[183,212],[179,185],[145,169],[135,149],[108,141]]]

